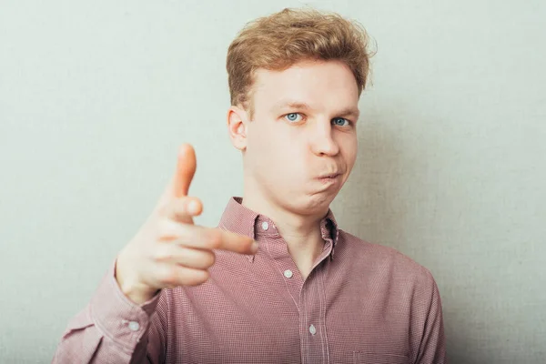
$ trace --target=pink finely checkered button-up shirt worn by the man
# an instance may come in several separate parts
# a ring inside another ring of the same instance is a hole
[[[218,227],[255,238],[255,256],[218,250],[206,283],[163,289],[142,306],[121,292],[114,262],[53,362],[446,362],[428,269],[339,229],[329,210],[304,280],[275,223],[240,202],[229,200]]]

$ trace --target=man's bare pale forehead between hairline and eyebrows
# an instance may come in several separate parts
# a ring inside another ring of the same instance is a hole
[[[253,86],[256,111],[278,108],[283,100],[298,100],[312,108],[355,108],[357,81],[340,61],[302,61],[285,70],[258,69]]]

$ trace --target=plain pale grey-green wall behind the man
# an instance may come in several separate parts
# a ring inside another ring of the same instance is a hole
[[[298,1],[0,1],[0,362],[49,362],[192,143],[217,223],[242,192],[225,56]],[[311,1],[378,44],[341,227],[440,287],[451,363],[546,362],[546,5]]]

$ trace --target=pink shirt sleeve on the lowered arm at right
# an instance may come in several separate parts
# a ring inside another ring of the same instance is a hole
[[[423,298],[427,300],[427,316],[425,318],[423,331],[420,339],[420,350],[415,361],[416,364],[445,364],[446,340],[441,308],[440,290],[436,281],[425,269],[426,279],[423,291],[426,292]]]

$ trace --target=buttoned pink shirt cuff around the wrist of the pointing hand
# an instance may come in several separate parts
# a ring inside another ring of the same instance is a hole
[[[139,306],[121,291],[115,272],[116,260],[91,298],[91,318],[107,338],[132,352],[147,333],[161,291]]]

